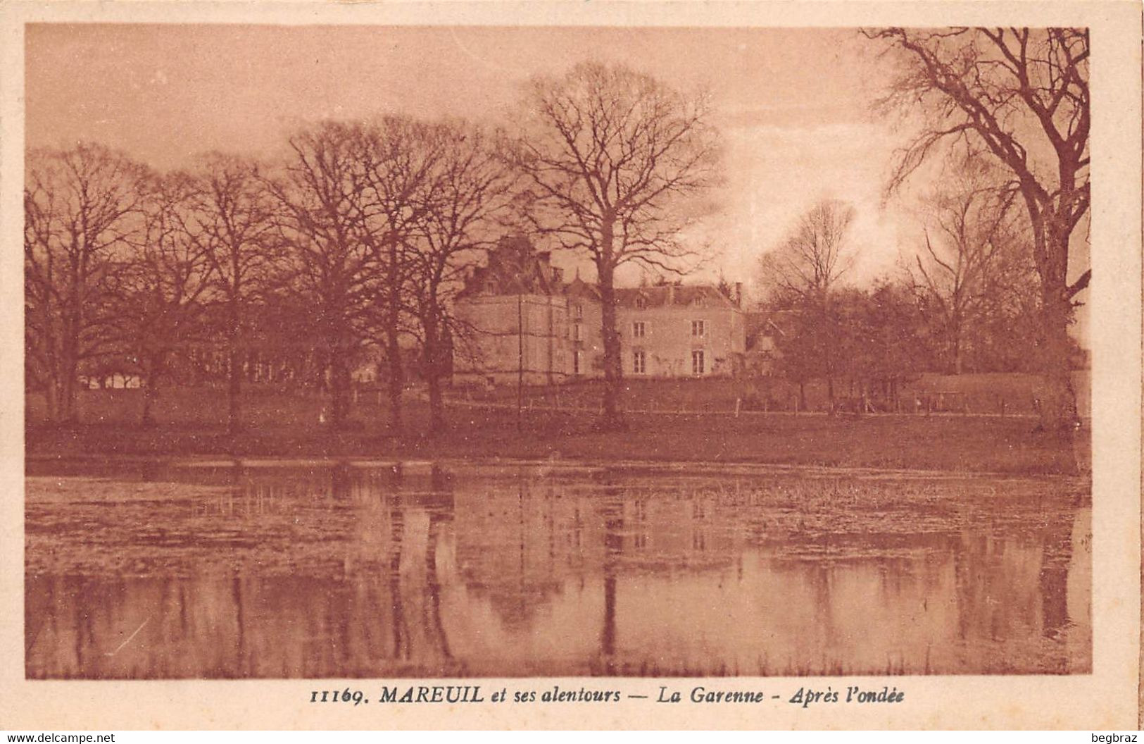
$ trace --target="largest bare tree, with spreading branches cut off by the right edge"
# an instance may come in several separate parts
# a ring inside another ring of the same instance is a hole
[[[920,112],[920,134],[903,150],[896,188],[951,143],[991,153],[1008,171],[1028,213],[1041,280],[1046,378],[1042,425],[1077,420],[1067,326],[1085,271],[1070,283],[1070,243],[1089,208],[1087,29],[880,29],[866,31],[896,54],[899,74],[881,102]]]

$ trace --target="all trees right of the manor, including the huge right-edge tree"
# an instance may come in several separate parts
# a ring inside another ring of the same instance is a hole
[[[1088,270],[1068,278],[1073,243],[1087,238],[1088,32],[864,34],[893,70],[875,108],[901,114],[912,133],[887,195],[927,168],[938,185],[922,189],[921,245],[899,276],[874,290],[840,290],[853,261],[853,211],[841,203],[817,205],[764,256],[769,302],[794,318],[780,341],[786,373],[825,378],[833,399],[839,378],[1031,364],[1044,379],[1042,425],[1071,429],[1068,325],[1090,278]]]

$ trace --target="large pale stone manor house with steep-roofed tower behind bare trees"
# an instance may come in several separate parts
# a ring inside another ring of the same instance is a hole
[[[661,284],[615,290],[625,377],[728,375],[742,364],[741,288]],[[490,251],[456,298],[464,341],[453,382],[550,385],[603,377],[599,288],[564,279],[523,237]],[[460,341],[460,339],[459,339]]]

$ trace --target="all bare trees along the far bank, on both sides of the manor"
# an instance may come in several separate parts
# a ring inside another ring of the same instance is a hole
[[[1032,316],[1046,425],[1071,426],[1067,326],[1089,279],[1068,280],[1089,206],[1087,31],[865,33],[893,69],[880,105],[905,114],[914,133],[889,190],[937,158],[963,165],[938,179],[955,188],[932,195],[924,251],[909,268],[914,296],[936,318],[932,335],[956,370],[985,319]],[[209,337],[229,355],[237,426],[237,359],[251,319],[269,317],[260,332],[301,346],[328,379],[335,426],[368,345],[384,350],[391,425],[400,426],[403,354],[414,340],[438,427],[440,375],[458,335],[450,293],[484,245],[524,229],[595,264],[601,424],[620,427],[614,277],[626,263],[682,271],[697,258],[680,236],[698,214],[689,203],[720,180],[712,113],[704,95],[580,64],[529,81],[507,133],[403,117],[326,122],[291,137],[269,166],[212,156],[177,174],[96,145],[30,153],[27,378],[66,421],[79,374],[101,361],[129,358],[152,395],[173,358]],[[771,259],[784,301],[799,304],[808,329],[829,327],[851,219],[816,211]],[[833,379],[839,348],[820,343],[804,356]]]

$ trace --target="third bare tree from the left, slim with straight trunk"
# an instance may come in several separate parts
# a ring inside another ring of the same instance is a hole
[[[255,302],[277,268],[280,240],[276,205],[262,183],[257,163],[221,153],[202,158],[194,177],[193,208],[184,230],[210,263],[222,304],[227,346],[227,421],[240,428],[243,356]]]

